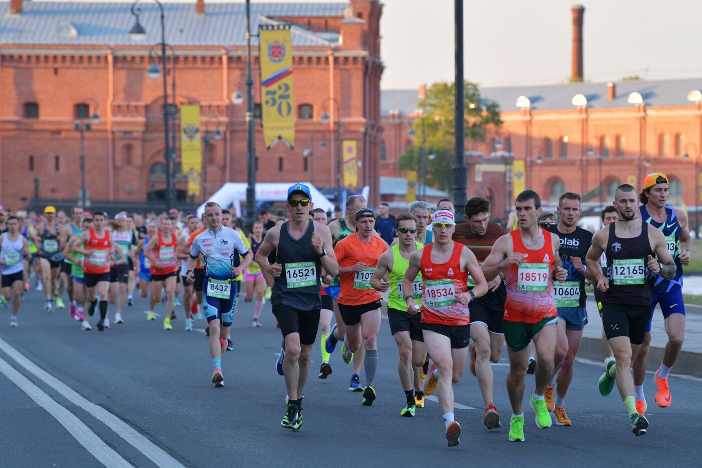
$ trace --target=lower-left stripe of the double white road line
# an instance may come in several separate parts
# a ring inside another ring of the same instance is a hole
[[[106,467],[131,467],[124,458],[119,456],[107,446],[107,444],[98,437],[98,434],[78,419],[76,415],[58,404],[51,396],[48,396],[42,389],[34,385],[31,380],[19,373],[15,368],[10,366],[4,359],[0,358],[0,372],[4,373],[8,379],[17,385],[22,392],[25,392],[29,398],[34,400],[34,403],[44,408],[55,420],[57,420],[71,434],[74,439],[84,446],[93,457],[98,459],[98,462]]]

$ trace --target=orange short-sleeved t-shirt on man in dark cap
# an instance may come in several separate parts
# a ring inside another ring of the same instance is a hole
[[[364,242],[356,233],[336,243],[334,255],[340,267],[352,267],[358,262],[366,264],[362,272],[339,275],[339,304],[362,305],[380,299],[380,293],[371,286],[371,276],[385,250],[388,250],[388,246],[383,239],[371,236],[369,242]]]

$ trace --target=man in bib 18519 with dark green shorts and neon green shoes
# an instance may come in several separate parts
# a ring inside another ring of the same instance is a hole
[[[524,190],[516,199],[519,228],[497,239],[482,265],[485,278],[505,274],[507,299],[503,328],[510,358],[507,391],[512,403],[510,441],[524,441],[524,376],[527,373],[527,345],[534,340],[537,365],[536,391],[531,406],[536,410],[536,426],[551,426],[544,394],[553,376],[556,348],[557,309],[552,297],[552,279],[565,281],[568,272],[557,255],[559,239],[537,224],[541,198]]]

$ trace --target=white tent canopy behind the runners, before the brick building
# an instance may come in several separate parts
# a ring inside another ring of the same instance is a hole
[[[288,199],[288,189],[298,182],[276,182],[256,184],[256,201],[286,201]],[[324,211],[334,209],[333,203],[317,190],[317,187],[310,182],[299,182],[310,187],[312,203],[314,208],[322,208]],[[241,201],[246,201],[246,184],[244,182],[227,182],[220,187],[207,201],[216,201],[222,208],[232,206],[237,213],[237,218],[241,217]],[[197,215],[202,216],[205,212],[205,203],[197,208]]]

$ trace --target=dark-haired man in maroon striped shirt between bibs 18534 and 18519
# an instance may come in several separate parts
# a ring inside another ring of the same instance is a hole
[[[447,204],[446,201],[440,201],[439,205],[442,203]],[[453,240],[468,247],[475,255],[478,265],[482,265],[497,239],[508,231],[501,225],[489,222],[490,202],[482,196],[468,200],[464,209],[466,222],[456,226]],[[472,343],[468,347],[470,373],[477,377],[480,393],[485,402],[483,424],[487,429],[501,427],[500,415],[493,402],[494,378],[490,363],[500,361],[505,344],[503,315],[507,288],[503,279],[503,274],[495,276],[488,283],[487,293],[470,302],[470,337],[472,338]],[[470,276],[468,287],[475,287],[475,281]]]

